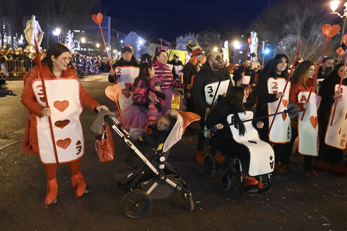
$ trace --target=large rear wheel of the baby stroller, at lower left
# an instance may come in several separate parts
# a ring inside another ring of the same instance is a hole
[[[140,218],[148,212],[151,207],[150,196],[142,190],[133,190],[122,198],[122,210],[130,218]]]

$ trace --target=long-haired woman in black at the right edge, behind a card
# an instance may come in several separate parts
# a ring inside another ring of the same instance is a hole
[[[344,72],[343,76],[342,72]],[[346,77],[347,67],[344,66],[344,64],[340,63],[337,64],[335,69],[329,74],[329,76],[321,82],[319,95],[322,96],[322,101],[318,111],[318,121],[320,123],[321,129],[319,155],[315,164],[315,166],[318,168],[329,169],[329,171],[344,174],[347,174],[347,168],[342,165],[342,161],[344,159],[344,150],[329,146],[325,144],[324,141],[331,113],[331,106],[334,105],[336,99],[341,95],[339,90],[335,91],[335,85],[340,84],[341,78],[342,85],[347,85]],[[345,87],[342,86],[342,88]],[[337,113],[335,114],[335,116],[337,116]],[[334,122],[336,122],[336,119],[334,120]],[[341,134],[345,133],[345,131],[341,132]],[[330,164],[330,166],[328,164]]]

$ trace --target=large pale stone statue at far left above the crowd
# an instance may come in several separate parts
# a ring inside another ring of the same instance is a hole
[[[26,27],[24,30],[26,41],[28,41],[29,46],[27,46],[27,49],[29,49],[31,52],[35,51],[35,37],[37,46],[39,46],[39,49],[41,49],[40,45],[43,38],[43,31],[41,30],[41,27],[39,25],[39,22],[35,20],[35,15],[31,16],[31,19],[26,22]]]

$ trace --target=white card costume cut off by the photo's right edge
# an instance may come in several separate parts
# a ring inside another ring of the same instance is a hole
[[[335,91],[339,89],[339,84],[335,85]],[[334,91],[334,92],[335,92]],[[325,144],[333,146],[338,149],[346,148],[346,135],[347,135],[347,86],[341,85],[340,97],[337,101],[335,116],[332,121],[332,126],[330,126],[332,113],[334,111],[335,103],[331,105],[330,117],[327,127],[327,132],[325,134]],[[336,99],[335,99],[336,102]]]

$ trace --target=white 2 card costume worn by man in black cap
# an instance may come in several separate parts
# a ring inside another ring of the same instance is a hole
[[[138,77],[139,71],[140,71],[140,68],[136,66],[117,66],[115,68],[115,77],[117,75],[116,80],[118,85],[120,85],[122,89],[131,87],[136,77]],[[125,95],[123,94],[120,95],[118,99],[120,110],[133,104],[133,101],[131,98],[132,98],[131,92]]]

